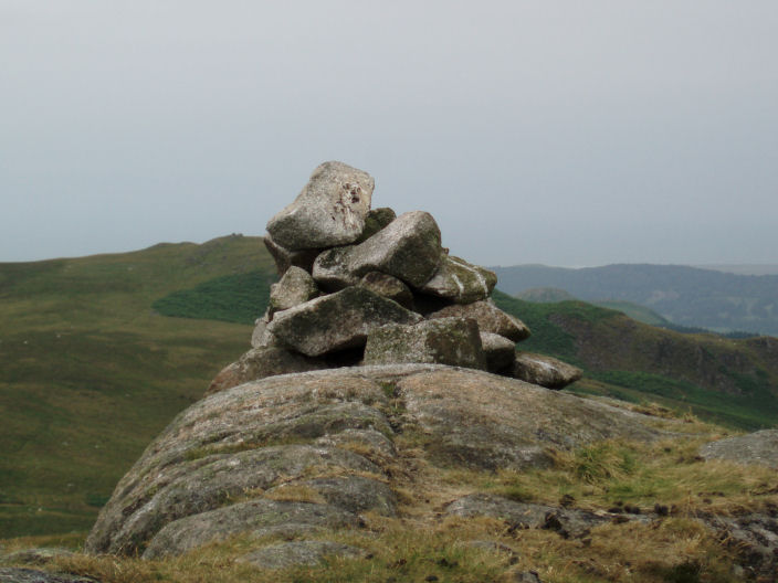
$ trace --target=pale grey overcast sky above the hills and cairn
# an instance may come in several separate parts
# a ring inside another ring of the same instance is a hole
[[[775,0],[0,0],[0,262],[261,235],[322,161],[487,265],[778,263]]]

